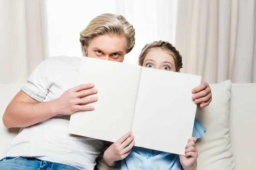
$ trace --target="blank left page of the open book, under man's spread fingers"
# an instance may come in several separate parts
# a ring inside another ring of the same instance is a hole
[[[141,66],[81,58],[78,85],[94,83],[94,111],[71,115],[69,133],[116,142],[131,130]]]

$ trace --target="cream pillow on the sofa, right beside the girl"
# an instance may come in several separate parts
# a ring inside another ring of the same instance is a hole
[[[206,108],[198,107],[196,117],[207,128],[206,135],[198,139],[197,170],[234,170],[230,147],[230,80],[210,84],[212,102]]]

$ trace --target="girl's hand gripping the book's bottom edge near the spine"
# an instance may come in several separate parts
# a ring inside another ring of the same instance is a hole
[[[125,159],[130,154],[134,144],[134,136],[131,136],[131,132],[126,133],[118,141],[108,147],[104,152],[103,160],[108,166],[116,165],[116,161]]]

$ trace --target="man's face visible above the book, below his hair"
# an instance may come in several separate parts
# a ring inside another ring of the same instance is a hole
[[[123,35],[98,35],[89,41],[87,56],[123,62],[127,49],[127,40]]]

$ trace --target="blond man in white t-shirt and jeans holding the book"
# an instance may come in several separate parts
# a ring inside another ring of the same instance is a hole
[[[85,57],[122,62],[135,44],[135,30],[121,15],[102,14],[80,33]],[[76,86],[79,57],[49,57],[33,71],[3,115],[7,128],[26,127],[0,160],[0,169],[93,170],[104,142],[67,132],[70,114],[91,111],[97,101],[93,82]],[[110,82],[111,83],[111,82]],[[75,87],[76,86],[76,87]],[[209,105],[209,85],[194,89],[197,103]]]

